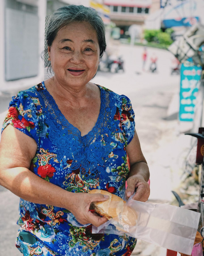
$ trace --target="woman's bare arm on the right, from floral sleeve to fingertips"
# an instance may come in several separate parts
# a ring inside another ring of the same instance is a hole
[[[147,183],[150,173],[147,162],[142,154],[136,131],[132,141],[126,147],[126,151],[130,159],[130,173],[125,191],[126,197],[129,198],[136,190],[133,199],[145,202],[150,195],[150,188]]]

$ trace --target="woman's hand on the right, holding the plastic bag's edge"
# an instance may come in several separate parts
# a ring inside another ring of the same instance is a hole
[[[142,202],[146,202],[148,200],[150,195],[150,186],[144,180],[142,175],[135,174],[127,179],[127,189],[125,191],[126,197],[129,198],[135,191],[136,193],[132,199]]]

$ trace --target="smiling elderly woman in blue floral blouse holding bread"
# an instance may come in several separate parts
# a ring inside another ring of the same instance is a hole
[[[13,97],[2,129],[0,184],[20,197],[16,246],[26,256],[130,255],[134,238],[91,234],[107,219],[90,204],[107,197],[87,192],[150,193],[130,100],[90,82],[103,21],[91,8],[62,7],[46,38],[54,76]]]

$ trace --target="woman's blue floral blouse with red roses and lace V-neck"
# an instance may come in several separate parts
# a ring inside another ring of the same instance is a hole
[[[62,115],[44,82],[12,98],[2,130],[11,124],[36,141],[30,170],[42,179],[73,193],[103,189],[124,198],[130,171],[125,147],[134,136],[134,111],[128,97],[97,86],[100,114],[83,137]],[[31,245],[18,236],[16,246],[24,255],[127,256],[136,244],[125,234],[91,234],[91,225],[81,225],[67,209],[23,199],[17,224],[37,238]]]

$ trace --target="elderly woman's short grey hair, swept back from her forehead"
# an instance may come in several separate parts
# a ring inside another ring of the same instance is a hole
[[[50,47],[52,45],[59,29],[75,21],[87,21],[91,25],[91,27],[96,30],[101,58],[106,48],[105,26],[103,20],[98,15],[96,10],[90,7],[84,7],[83,5],[68,5],[59,8],[57,11],[53,12],[50,17],[49,25],[45,35],[47,46]],[[48,48],[45,47],[44,58],[45,56],[47,56],[47,54]],[[48,65],[48,70],[52,70],[50,61]]]

